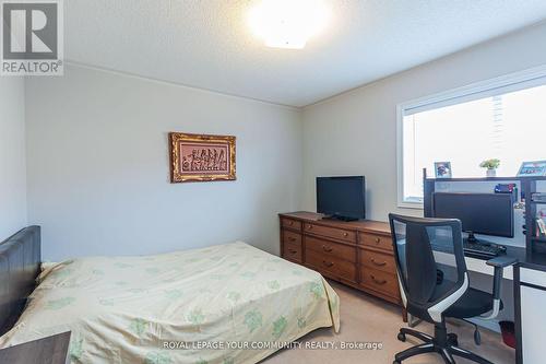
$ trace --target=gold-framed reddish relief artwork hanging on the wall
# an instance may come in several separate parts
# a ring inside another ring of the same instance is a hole
[[[234,180],[235,137],[169,132],[170,183]]]

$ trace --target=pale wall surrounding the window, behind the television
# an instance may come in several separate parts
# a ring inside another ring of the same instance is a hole
[[[306,107],[302,209],[314,210],[316,176],[366,175],[369,219],[422,215],[396,207],[396,105],[544,64],[545,42],[543,23]]]

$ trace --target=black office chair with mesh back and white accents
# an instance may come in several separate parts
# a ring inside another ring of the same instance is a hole
[[[447,332],[446,317],[494,318],[502,309],[502,269],[515,259],[497,257],[487,261],[495,268],[492,294],[471,289],[464,261],[461,222],[454,219],[420,219],[389,214],[402,301],[407,313],[435,325],[435,336],[401,328],[399,340],[415,337],[424,343],[395,355],[393,364],[423,353],[439,353],[446,363],[453,355],[475,363],[486,359],[458,345]]]

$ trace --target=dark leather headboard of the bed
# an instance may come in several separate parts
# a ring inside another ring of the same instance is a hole
[[[40,227],[28,226],[0,243],[0,336],[13,327],[40,271]]]

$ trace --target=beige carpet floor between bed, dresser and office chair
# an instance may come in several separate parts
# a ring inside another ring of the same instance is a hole
[[[292,364],[292,363],[359,363],[359,364],[391,364],[394,354],[416,343],[417,340],[408,339],[406,342],[396,340],[402,321],[400,308],[383,301],[373,298],[357,290],[331,282],[341,297],[341,331],[335,334],[331,329],[319,329],[306,337],[300,342],[314,341],[370,341],[381,342],[381,350],[310,350],[289,349],[275,353],[262,363],[264,364]],[[417,330],[432,333],[432,326],[427,322],[419,324]],[[514,350],[502,343],[497,332],[480,329],[482,345],[474,344],[473,327],[465,322],[448,324],[448,331],[459,334],[459,344],[471,350],[496,364],[512,364],[515,362]],[[455,357],[456,363],[470,363]],[[404,363],[443,363],[437,354],[420,355]]]

